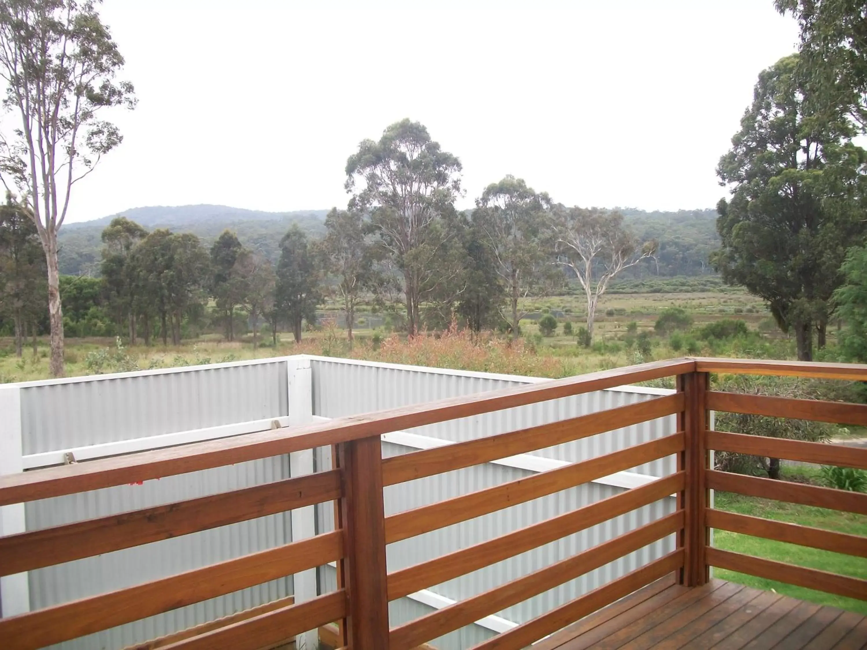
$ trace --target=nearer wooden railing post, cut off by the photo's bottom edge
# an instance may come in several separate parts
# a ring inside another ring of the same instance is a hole
[[[388,650],[388,569],[380,437],[337,445],[337,465],[343,471],[339,523],[344,548],[338,576],[347,598],[342,634],[348,647],[355,650]]]

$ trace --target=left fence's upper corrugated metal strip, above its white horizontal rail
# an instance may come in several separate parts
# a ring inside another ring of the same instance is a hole
[[[286,415],[286,362],[125,374],[21,389],[23,452]]]

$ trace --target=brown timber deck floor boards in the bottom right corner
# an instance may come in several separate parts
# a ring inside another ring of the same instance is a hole
[[[772,591],[712,580],[695,588],[674,576],[577,621],[533,650],[859,650],[867,618]]]

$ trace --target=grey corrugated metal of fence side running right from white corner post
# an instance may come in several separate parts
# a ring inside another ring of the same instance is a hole
[[[440,400],[448,397],[523,386],[525,378],[511,380],[502,376],[485,374],[447,374],[425,368],[394,367],[384,364],[345,363],[340,360],[311,360],[313,380],[313,413],[323,417],[341,417],[367,413],[396,406]],[[486,413],[472,418],[451,420],[431,426],[408,430],[434,438],[462,441],[514,431],[528,426],[577,417],[586,413],[626,406],[644,400],[652,400],[662,391],[637,389],[605,390],[576,395],[562,400],[550,400],[529,406]],[[668,393],[668,392],[666,392]],[[675,432],[675,416],[656,419],[636,426],[606,432],[587,439],[576,440],[532,452],[544,458],[576,462],[594,458],[632,445],[646,442]],[[416,450],[384,442],[383,457]],[[328,465],[327,450],[319,452],[318,462]],[[651,476],[665,476],[675,470],[675,458],[662,458],[642,465],[633,471]],[[409,510],[421,505],[477,491],[492,485],[505,483],[533,472],[504,465],[477,465],[451,471],[433,477],[389,486],[385,490],[386,514]],[[622,488],[590,483],[561,491],[512,508],[499,510],[468,522],[434,530],[399,543],[388,545],[388,570],[394,571],[418,562],[425,562],[474,543],[486,541],[537,523],[583,505],[595,503],[606,497],[623,492]],[[499,584],[508,582],[531,571],[541,569],[584,549],[603,543],[614,536],[633,530],[675,510],[675,500],[666,498],[655,504],[616,517],[609,522],[564,537],[538,549],[498,562],[485,569],[433,585],[429,590],[454,601],[477,595]],[[332,530],[333,513],[330,508],[317,510],[319,530]],[[577,580],[570,581],[544,594],[535,596],[511,608],[497,613],[508,621],[528,621],[549,611],[578,595],[603,585],[605,582],[634,570],[646,562],[665,555],[675,548],[674,536],[669,536],[635,553],[625,556],[600,569],[591,571]],[[336,585],[334,575],[327,570],[322,576],[323,585]],[[333,588],[336,588],[333,587]],[[417,601],[401,598],[389,606],[391,624],[411,621],[433,611]],[[443,650],[458,650],[471,647],[492,635],[492,631],[478,625],[464,627],[452,634],[433,641]]]

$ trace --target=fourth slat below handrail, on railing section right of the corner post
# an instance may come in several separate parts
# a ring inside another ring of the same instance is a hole
[[[711,509],[705,511],[705,523],[710,528],[729,530],[733,533],[799,544],[813,549],[832,550],[848,556],[867,557],[867,537],[838,533],[835,530],[823,530],[797,523],[777,522],[772,519]]]

